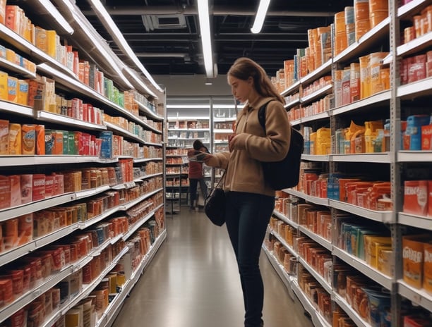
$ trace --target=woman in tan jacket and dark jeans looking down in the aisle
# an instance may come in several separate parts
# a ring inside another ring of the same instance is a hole
[[[244,109],[236,119],[229,152],[209,154],[208,166],[226,169],[225,216],[229,239],[239,266],[245,327],[263,326],[264,288],[259,269],[261,245],[275,208],[275,190],[266,183],[261,161],[280,161],[287,155],[290,128],[284,99],[265,70],[249,58],[237,59],[228,71],[228,84]],[[265,134],[258,110],[267,105]]]

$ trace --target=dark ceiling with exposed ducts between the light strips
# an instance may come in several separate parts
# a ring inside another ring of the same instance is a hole
[[[275,75],[296,49],[307,47],[307,30],[328,26],[344,0],[273,0],[258,35],[251,27],[258,0],[209,0],[213,58],[224,75],[248,56]],[[151,75],[204,75],[197,0],[102,0],[126,41]],[[76,0],[95,29],[129,63],[104,29],[88,0]],[[132,63],[131,63],[132,65]]]

